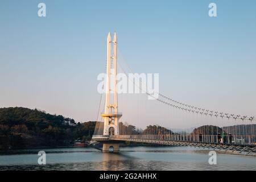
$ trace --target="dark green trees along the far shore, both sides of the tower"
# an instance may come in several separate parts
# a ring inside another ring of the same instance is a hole
[[[48,114],[46,111],[38,109],[3,107],[0,108],[0,150],[74,147],[74,143],[78,140],[88,142],[92,139],[94,129],[97,128],[96,124],[102,125],[103,123],[96,121],[80,123],[75,122],[72,118]],[[140,132],[150,134],[155,127],[158,127],[158,134],[177,134],[170,129],[155,125],[147,126]],[[222,131],[220,127],[216,126],[214,126],[215,130],[213,131],[207,131],[207,128],[207,125],[197,127],[192,131],[192,134],[198,134],[199,130],[202,129],[213,135],[217,134],[217,130],[218,132]],[[223,128],[225,129],[225,127]],[[119,129],[127,135],[129,132],[134,133],[137,130],[135,126],[122,122],[119,122]],[[155,144],[135,142],[126,142],[122,145],[156,146]],[[96,144],[96,147],[100,147],[100,144]]]

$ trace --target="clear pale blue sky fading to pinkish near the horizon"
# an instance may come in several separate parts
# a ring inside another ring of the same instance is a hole
[[[46,3],[45,18],[38,16],[40,2]],[[210,2],[217,17],[208,15]],[[117,31],[119,52],[134,72],[159,73],[160,92],[187,104],[256,115],[254,0],[2,0],[0,107],[94,121],[109,31]],[[141,127],[199,122],[156,101],[119,98],[123,121]]]

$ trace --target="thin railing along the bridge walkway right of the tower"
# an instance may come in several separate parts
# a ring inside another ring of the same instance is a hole
[[[241,144],[255,146],[255,136],[253,135],[226,135],[224,138],[220,135],[113,135],[110,139],[139,139],[139,140],[170,140],[183,142],[202,142],[202,143],[224,143],[224,144]]]

